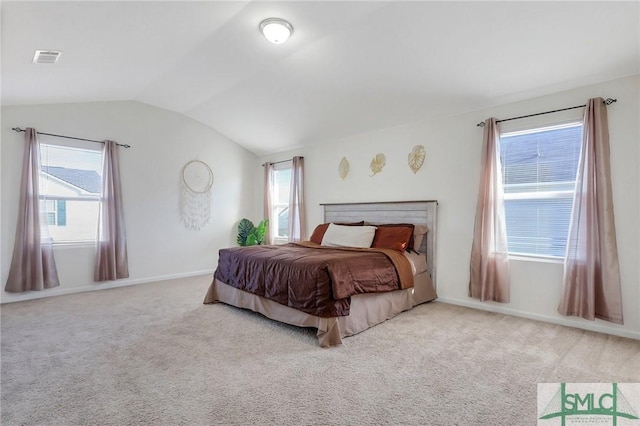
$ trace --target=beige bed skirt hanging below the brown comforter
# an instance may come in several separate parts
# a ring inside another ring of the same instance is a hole
[[[262,296],[227,285],[214,278],[204,299],[205,304],[222,302],[238,308],[258,312],[267,318],[298,327],[318,329],[322,347],[342,344],[342,338],[360,333],[414,306],[437,298],[435,288],[424,272],[415,275],[414,287],[387,293],[368,293],[351,296],[348,316],[317,317],[298,311]]]

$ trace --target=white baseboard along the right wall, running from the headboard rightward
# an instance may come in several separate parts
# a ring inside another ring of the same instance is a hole
[[[551,324],[563,325],[566,327],[580,328],[582,330],[595,331],[598,333],[612,334],[614,336],[627,337],[630,339],[640,340],[640,332],[638,331],[624,330],[624,329],[613,327],[613,326],[607,326],[599,322],[599,320],[595,322],[582,320],[584,321],[582,322],[578,318],[574,320],[556,318],[548,315],[540,315],[532,312],[524,312],[516,309],[510,309],[507,307],[496,306],[493,304],[475,302],[472,300],[460,300],[460,299],[454,299],[449,297],[438,297],[437,301],[442,303],[448,303],[450,305],[464,306],[467,308],[479,309],[482,311],[496,312],[499,314],[511,315],[514,317],[527,318],[535,321],[548,322]]]

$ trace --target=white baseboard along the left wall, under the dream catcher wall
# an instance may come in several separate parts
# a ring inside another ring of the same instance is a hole
[[[126,286],[137,285],[137,284],[146,284],[154,281],[167,281],[167,280],[174,280],[174,279],[180,279],[180,278],[189,278],[189,277],[195,277],[199,275],[212,275],[213,277],[213,272],[214,272],[213,269],[210,269],[210,270],[207,269],[203,271],[186,272],[181,274],[160,275],[156,277],[124,279],[124,280],[109,281],[109,282],[103,282],[103,283],[93,283],[89,285],[83,285],[80,287],[71,287],[71,288],[55,287],[52,289],[42,290],[42,291],[30,291],[28,293],[3,292],[2,295],[0,296],[0,304],[24,302],[26,300],[35,300],[35,299],[42,299],[45,297],[63,296],[66,294],[73,294],[73,293],[83,293],[86,291],[106,290],[109,288],[126,287]]]

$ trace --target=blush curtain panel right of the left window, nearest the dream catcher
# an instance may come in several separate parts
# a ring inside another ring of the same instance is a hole
[[[127,277],[129,277],[129,263],[122,207],[118,146],[114,141],[104,141],[102,197],[93,278],[99,282]]]

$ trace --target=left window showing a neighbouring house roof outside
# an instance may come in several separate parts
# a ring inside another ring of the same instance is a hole
[[[40,198],[54,243],[95,241],[102,191],[102,151],[40,144]]]

